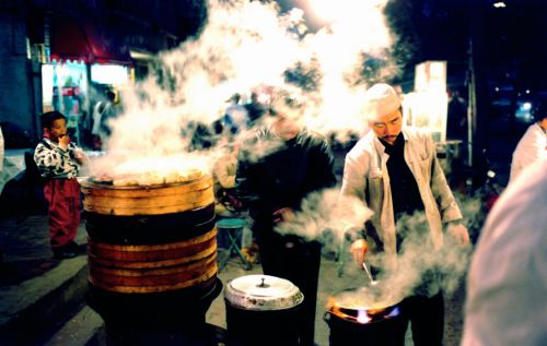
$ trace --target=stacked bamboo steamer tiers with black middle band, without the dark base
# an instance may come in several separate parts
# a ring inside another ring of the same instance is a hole
[[[199,287],[198,298],[210,290],[218,271],[210,176],[151,187],[81,187],[92,286],[121,295]]]

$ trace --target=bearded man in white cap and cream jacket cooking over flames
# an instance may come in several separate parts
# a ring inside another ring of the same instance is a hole
[[[381,270],[396,271],[396,254],[406,239],[422,239],[426,255],[441,250],[443,228],[461,247],[467,247],[469,236],[458,223],[462,213],[437,159],[434,143],[426,133],[403,129],[401,103],[395,90],[387,84],[369,88],[365,115],[372,131],[346,156],[341,187],[342,195],[358,196],[374,212],[364,237],[351,244],[356,262],[363,264],[370,247],[371,252],[383,254],[377,263]],[[409,217],[427,222],[422,227],[409,227]],[[415,345],[442,345],[442,291],[420,295],[415,290],[400,306],[407,319],[405,330],[411,323]]]

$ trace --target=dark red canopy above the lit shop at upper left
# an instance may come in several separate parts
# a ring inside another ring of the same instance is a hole
[[[128,47],[119,33],[72,17],[53,17],[50,58],[57,61],[132,64]]]

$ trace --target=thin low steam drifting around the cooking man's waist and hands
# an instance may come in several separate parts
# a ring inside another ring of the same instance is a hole
[[[358,199],[339,201],[338,193],[337,189],[328,189],[310,194],[302,202],[301,211],[295,214],[294,220],[280,224],[276,230],[317,240],[329,251],[339,251],[342,246],[349,248],[349,243],[344,243],[346,231],[362,228],[372,212]],[[477,200],[459,202],[459,205],[464,214],[464,225],[470,224],[478,212]],[[416,294],[432,296],[439,289],[449,295],[453,294],[467,271],[472,247],[461,248],[456,240],[445,232],[443,248],[440,251],[434,250],[423,213],[401,217],[397,222],[397,230],[405,240],[395,262],[394,258],[383,252],[371,253],[372,251],[365,260],[369,264],[384,269],[376,274],[375,279],[383,283],[382,287],[385,285],[389,289],[381,290],[377,300],[393,301],[394,297],[404,298]],[[357,281],[358,285],[364,284],[362,270],[352,260],[348,262],[348,272],[361,276]],[[356,299],[363,298],[360,296],[362,291],[356,291]]]

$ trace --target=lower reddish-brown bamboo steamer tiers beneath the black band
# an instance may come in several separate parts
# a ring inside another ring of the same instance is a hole
[[[168,244],[88,243],[90,283],[117,293],[160,293],[187,288],[217,274],[217,229]]]

